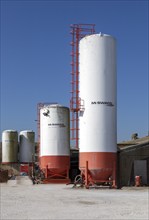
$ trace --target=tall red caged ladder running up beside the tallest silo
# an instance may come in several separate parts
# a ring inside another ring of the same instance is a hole
[[[79,97],[79,41],[95,33],[95,24],[70,25],[72,41],[71,45],[71,141],[74,148],[79,148],[79,111],[84,110],[83,101]]]

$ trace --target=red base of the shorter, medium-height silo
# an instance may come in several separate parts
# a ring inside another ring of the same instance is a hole
[[[69,179],[70,156],[42,156],[40,168],[47,182],[65,182],[64,180]]]

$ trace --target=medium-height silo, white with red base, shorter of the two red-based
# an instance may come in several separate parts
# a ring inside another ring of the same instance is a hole
[[[40,109],[40,167],[47,177],[65,178],[70,167],[69,108],[52,104]]]

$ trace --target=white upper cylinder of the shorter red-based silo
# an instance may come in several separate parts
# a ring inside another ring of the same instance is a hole
[[[48,105],[40,109],[40,156],[70,155],[69,108]]]

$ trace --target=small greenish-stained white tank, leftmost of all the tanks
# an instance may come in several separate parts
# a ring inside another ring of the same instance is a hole
[[[18,161],[18,132],[5,130],[2,133],[2,162]]]

